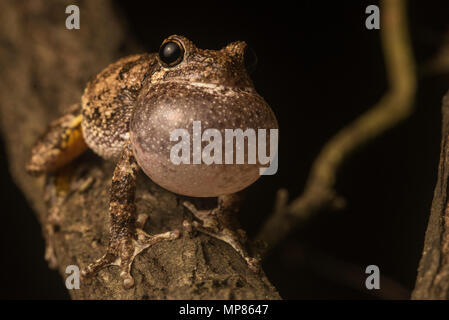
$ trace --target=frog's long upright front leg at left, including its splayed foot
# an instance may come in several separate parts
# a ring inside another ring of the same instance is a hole
[[[131,288],[134,285],[134,279],[131,276],[134,258],[155,243],[179,237],[178,230],[151,236],[142,229],[136,228],[134,198],[138,170],[132,148],[127,142],[112,177],[109,245],[103,257],[83,270],[83,275],[86,277],[109,265],[116,265],[120,267],[120,277],[123,279],[124,287]]]

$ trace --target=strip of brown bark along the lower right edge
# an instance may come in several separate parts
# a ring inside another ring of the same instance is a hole
[[[449,94],[442,113],[438,180],[412,299],[449,299]]]

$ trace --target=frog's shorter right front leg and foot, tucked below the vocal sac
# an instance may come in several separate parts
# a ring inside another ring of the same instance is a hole
[[[218,205],[212,210],[198,210],[192,203],[185,201],[184,206],[189,209],[197,219],[192,224],[187,221],[184,226],[191,227],[228,243],[246,261],[248,267],[258,272],[259,259],[251,257],[245,249],[246,234],[239,228],[236,213],[239,209],[240,196],[238,193],[223,195],[218,197]]]

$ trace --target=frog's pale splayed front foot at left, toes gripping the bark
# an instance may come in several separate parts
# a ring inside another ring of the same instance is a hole
[[[124,235],[118,239],[112,239],[106,253],[94,263],[82,271],[83,277],[90,277],[107,266],[119,266],[120,277],[125,289],[134,286],[134,278],[131,275],[131,265],[134,258],[146,248],[165,240],[177,239],[178,230],[168,231],[157,235],[149,235],[142,229],[136,229],[134,235]]]

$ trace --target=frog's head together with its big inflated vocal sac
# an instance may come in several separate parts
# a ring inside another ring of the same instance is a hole
[[[225,164],[228,129],[257,133],[258,129],[278,127],[272,110],[249,76],[255,63],[254,53],[242,41],[220,50],[199,49],[176,35],[163,41],[137,99],[130,126],[137,162],[154,182],[175,193],[212,197],[242,190],[259,178],[261,165],[248,161],[248,146],[243,148],[243,164],[236,164],[237,151],[231,155],[234,164]],[[198,133],[194,123],[199,122]],[[203,134],[207,129],[221,136],[207,138]],[[177,135],[179,130],[186,134]],[[217,139],[222,139],[219,146]],[[198,146],[206,147],[207,140],[209,146],[214,141],[220,148],[219,152],[208,149],[213,163],[207,163],[202,150],[196,150]],[[175,145],[180,152],[174,155]],[[181,156],[182,162],[173,161],[173,155],[178,160]]]

